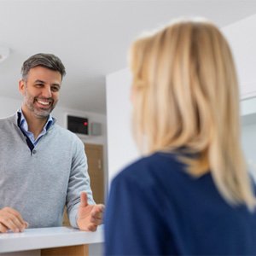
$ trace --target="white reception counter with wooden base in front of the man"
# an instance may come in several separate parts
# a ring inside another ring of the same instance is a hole
[[[103,242],[103,226],[96,232],[69,227],[28,229],[0,234],[0,255],[88,255],[88,245]]]

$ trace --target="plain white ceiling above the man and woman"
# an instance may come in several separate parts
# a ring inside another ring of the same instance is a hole
[[[0,0],[0,96],[20,99],[20,67],[38,52],[58,55],[67,68],[62,107],[106,113],[105,76],[126,67],[131,41],[178,16],[204,16],[218,26],[256,14],[255,0],[65,1]]]

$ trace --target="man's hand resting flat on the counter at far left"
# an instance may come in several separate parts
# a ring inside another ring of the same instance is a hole
[[[22,232],[28,227],[28,223],[21,217],[20,213],[10,207],[0,209],[0,233],[8,230]]]

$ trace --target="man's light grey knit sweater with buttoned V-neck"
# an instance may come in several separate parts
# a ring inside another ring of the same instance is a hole
[[[30,228],[61,226],[63,209],[73,227],[81,191],[94,204],[84,144],[53,124],[31,151],[17,116],[0,119],[0,209],[20,212]]]

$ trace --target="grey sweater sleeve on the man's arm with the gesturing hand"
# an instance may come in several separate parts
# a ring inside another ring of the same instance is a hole
[[[86,192],[88,204],[95,204],[90,189],[90,177],[88,174],[87,158],[84,153],[84,144],[77,140],[73,154],[73,161],[67,188],[67,215],[70,224],[77,228],[77,213],[81,192]]]

